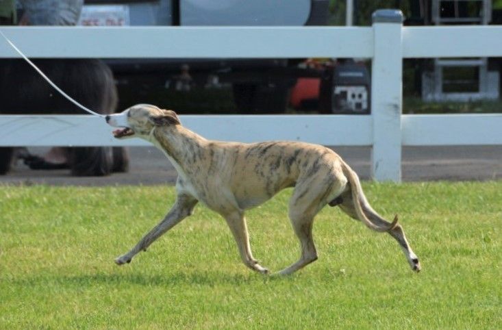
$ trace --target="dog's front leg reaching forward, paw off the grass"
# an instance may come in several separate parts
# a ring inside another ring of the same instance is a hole
[[[164,217],[158,225],[153,227],[145,237],[143,237],[136,246],[134,246],[131,251],[125,253],[125,255],[121,255],[115,259],[115,263],[120,265],[129,264],[131,259],[138,254],[140,251],[146,251],[147,247],[150,246],[157,238],[162,236],[166,231],[173,228],[175,225],[181,222],[187,216],[192,214],[194,206],[197,204],[197,199],[192,198],[191,196],[180,194],[177,196],[176,202],[168,212],[168,214]]]

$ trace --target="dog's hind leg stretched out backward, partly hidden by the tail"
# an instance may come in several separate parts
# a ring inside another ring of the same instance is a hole
[[[359,220],[354,210],[351,192],[345,192],[344,194],[342,194],[341,198],[342,198],[342,204],[340,204],[340,208],[342,209],[342,211],[351,216],[351,218]],[[373,207],[371,207],[371,205],[366,200],[366,196],[364,195],[360,196],[360,203],[362,210],[364,211],[364,214],[366,214],[366,216],[371,220],[372,223],[375,223],[375,225],[380,227],[389,225],[389,222],[387,220],[385,220],[375,210],[373,210]],[[397,240],[399,246],[401,246],[401,249],[403,249],[403,253],[405,254],[405,257],[408,263],[410,264],[412,270],[419,272],[421,270],[420,262],[418,261],[418,257],[416,256],[416,254],[413,252],[410,244],[406,240],[403,227],[397,224],[394,226],[394,228],[388,231],[388,233],[395,240]]]

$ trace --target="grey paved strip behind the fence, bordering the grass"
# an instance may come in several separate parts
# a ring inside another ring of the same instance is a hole
[[[371,149],[334,147],[362,179],[370,175]],[[44,149],[30,149],[42,153]],[[176,171],[160,151],[153,147],[131,147],[129,173],[108,177],[71,177],[68,170],[29,170],[16,164],[0,184],[47,183],[63,186],[115,186],[173,184]],[[491,180],[502,179],[502,146],[497,147],[405,147],[403,181]]]

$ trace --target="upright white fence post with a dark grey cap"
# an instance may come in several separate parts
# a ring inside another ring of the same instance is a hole
[[[377,181],[401,181],[401,106],[403,47],[400,10],[373,13],[375,55],[371,72],[373,116],[372,177]]]

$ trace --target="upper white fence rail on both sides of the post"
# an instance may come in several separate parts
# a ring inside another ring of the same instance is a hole
[[[1,27],[29,58],[373,58],[371,27]],[[501,26],[402,27],[403,58],[499,57]],[[0,58],[19,58],[0,42]]]

